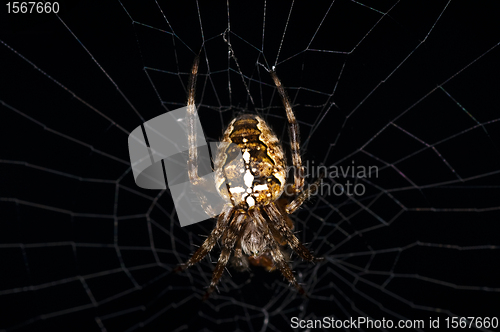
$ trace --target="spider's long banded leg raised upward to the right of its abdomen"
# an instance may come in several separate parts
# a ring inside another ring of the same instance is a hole
[[[294,189],[298,193],[304,186],[304,167],[302,166],[302,158],[300,156],[300,131],[295,115],[293,114],[290,98],[288,97],[285,88],[281,84],[280,79],[274,70],[270,71],[271,77],[281,96],[283,106],[285,106],[286,117],[288,119],[288,135],[290,136],[290,147],[292,150],[292,161],[294,167]]]

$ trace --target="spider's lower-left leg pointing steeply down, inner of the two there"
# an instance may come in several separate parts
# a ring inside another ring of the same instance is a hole
[[[210,286],[208,286],[208,290],[203,296],[203,301],[208,299],[210,294],[214,291],[215,286],[219,283],[219,280],[224,273],[224,268],[229,261],[229,256],[231,256],[231,250],[233,249],[236,241],[238,241],[241,231],[245,226],[246,218],[248,218],[246,214],[240,214],[233,218],[233,221],[229,225],[229,229],[224,234],[224,237],[222,238],[222,251],[220,253],[219,260],[217,261],[217,265],[215,266]]]

